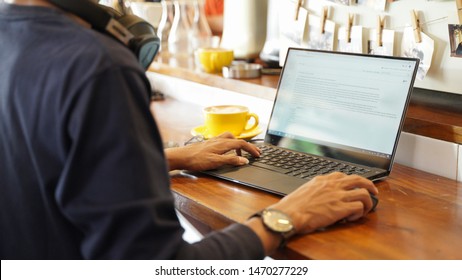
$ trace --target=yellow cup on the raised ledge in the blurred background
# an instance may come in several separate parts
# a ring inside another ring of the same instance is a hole
[[[207,73],[221,72],[224,66],[231,65],[234,59],[233,50],[223,48],[200,48],[196,51],[201,70]]]

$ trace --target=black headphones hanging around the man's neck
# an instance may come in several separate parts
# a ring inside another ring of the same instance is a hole
[[[147,69],[160,47],[154,27],[142,18],[122,14],[89,0],[49,0],[57,7],[89,22],[93,29],[111,35],[127,46]]]

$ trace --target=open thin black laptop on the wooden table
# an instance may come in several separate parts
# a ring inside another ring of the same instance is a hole
[[[387,177],[418,65],[415,58],[289,48],[257,144],[262,157],[205,173],[279,195],[334,171]]]

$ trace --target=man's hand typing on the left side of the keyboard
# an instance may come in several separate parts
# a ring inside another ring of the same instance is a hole
[[[247,164],[248,160],[241,157],[241,150],[245,150],[255,157],[260,156],[260,150],[255,145],[236,139],[229,132],[204,142],[166,149],[165,155],[170,170],[203,171],[226,164]],[[230,151],[232,152],[230,153]]]

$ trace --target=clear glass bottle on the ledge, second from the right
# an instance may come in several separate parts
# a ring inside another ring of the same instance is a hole
[[[175,0],[172,28],[168,35],[168,50],[174,56],[188,56],[192,54],[189,32],[191,30],[188,21],[188,0]]]

